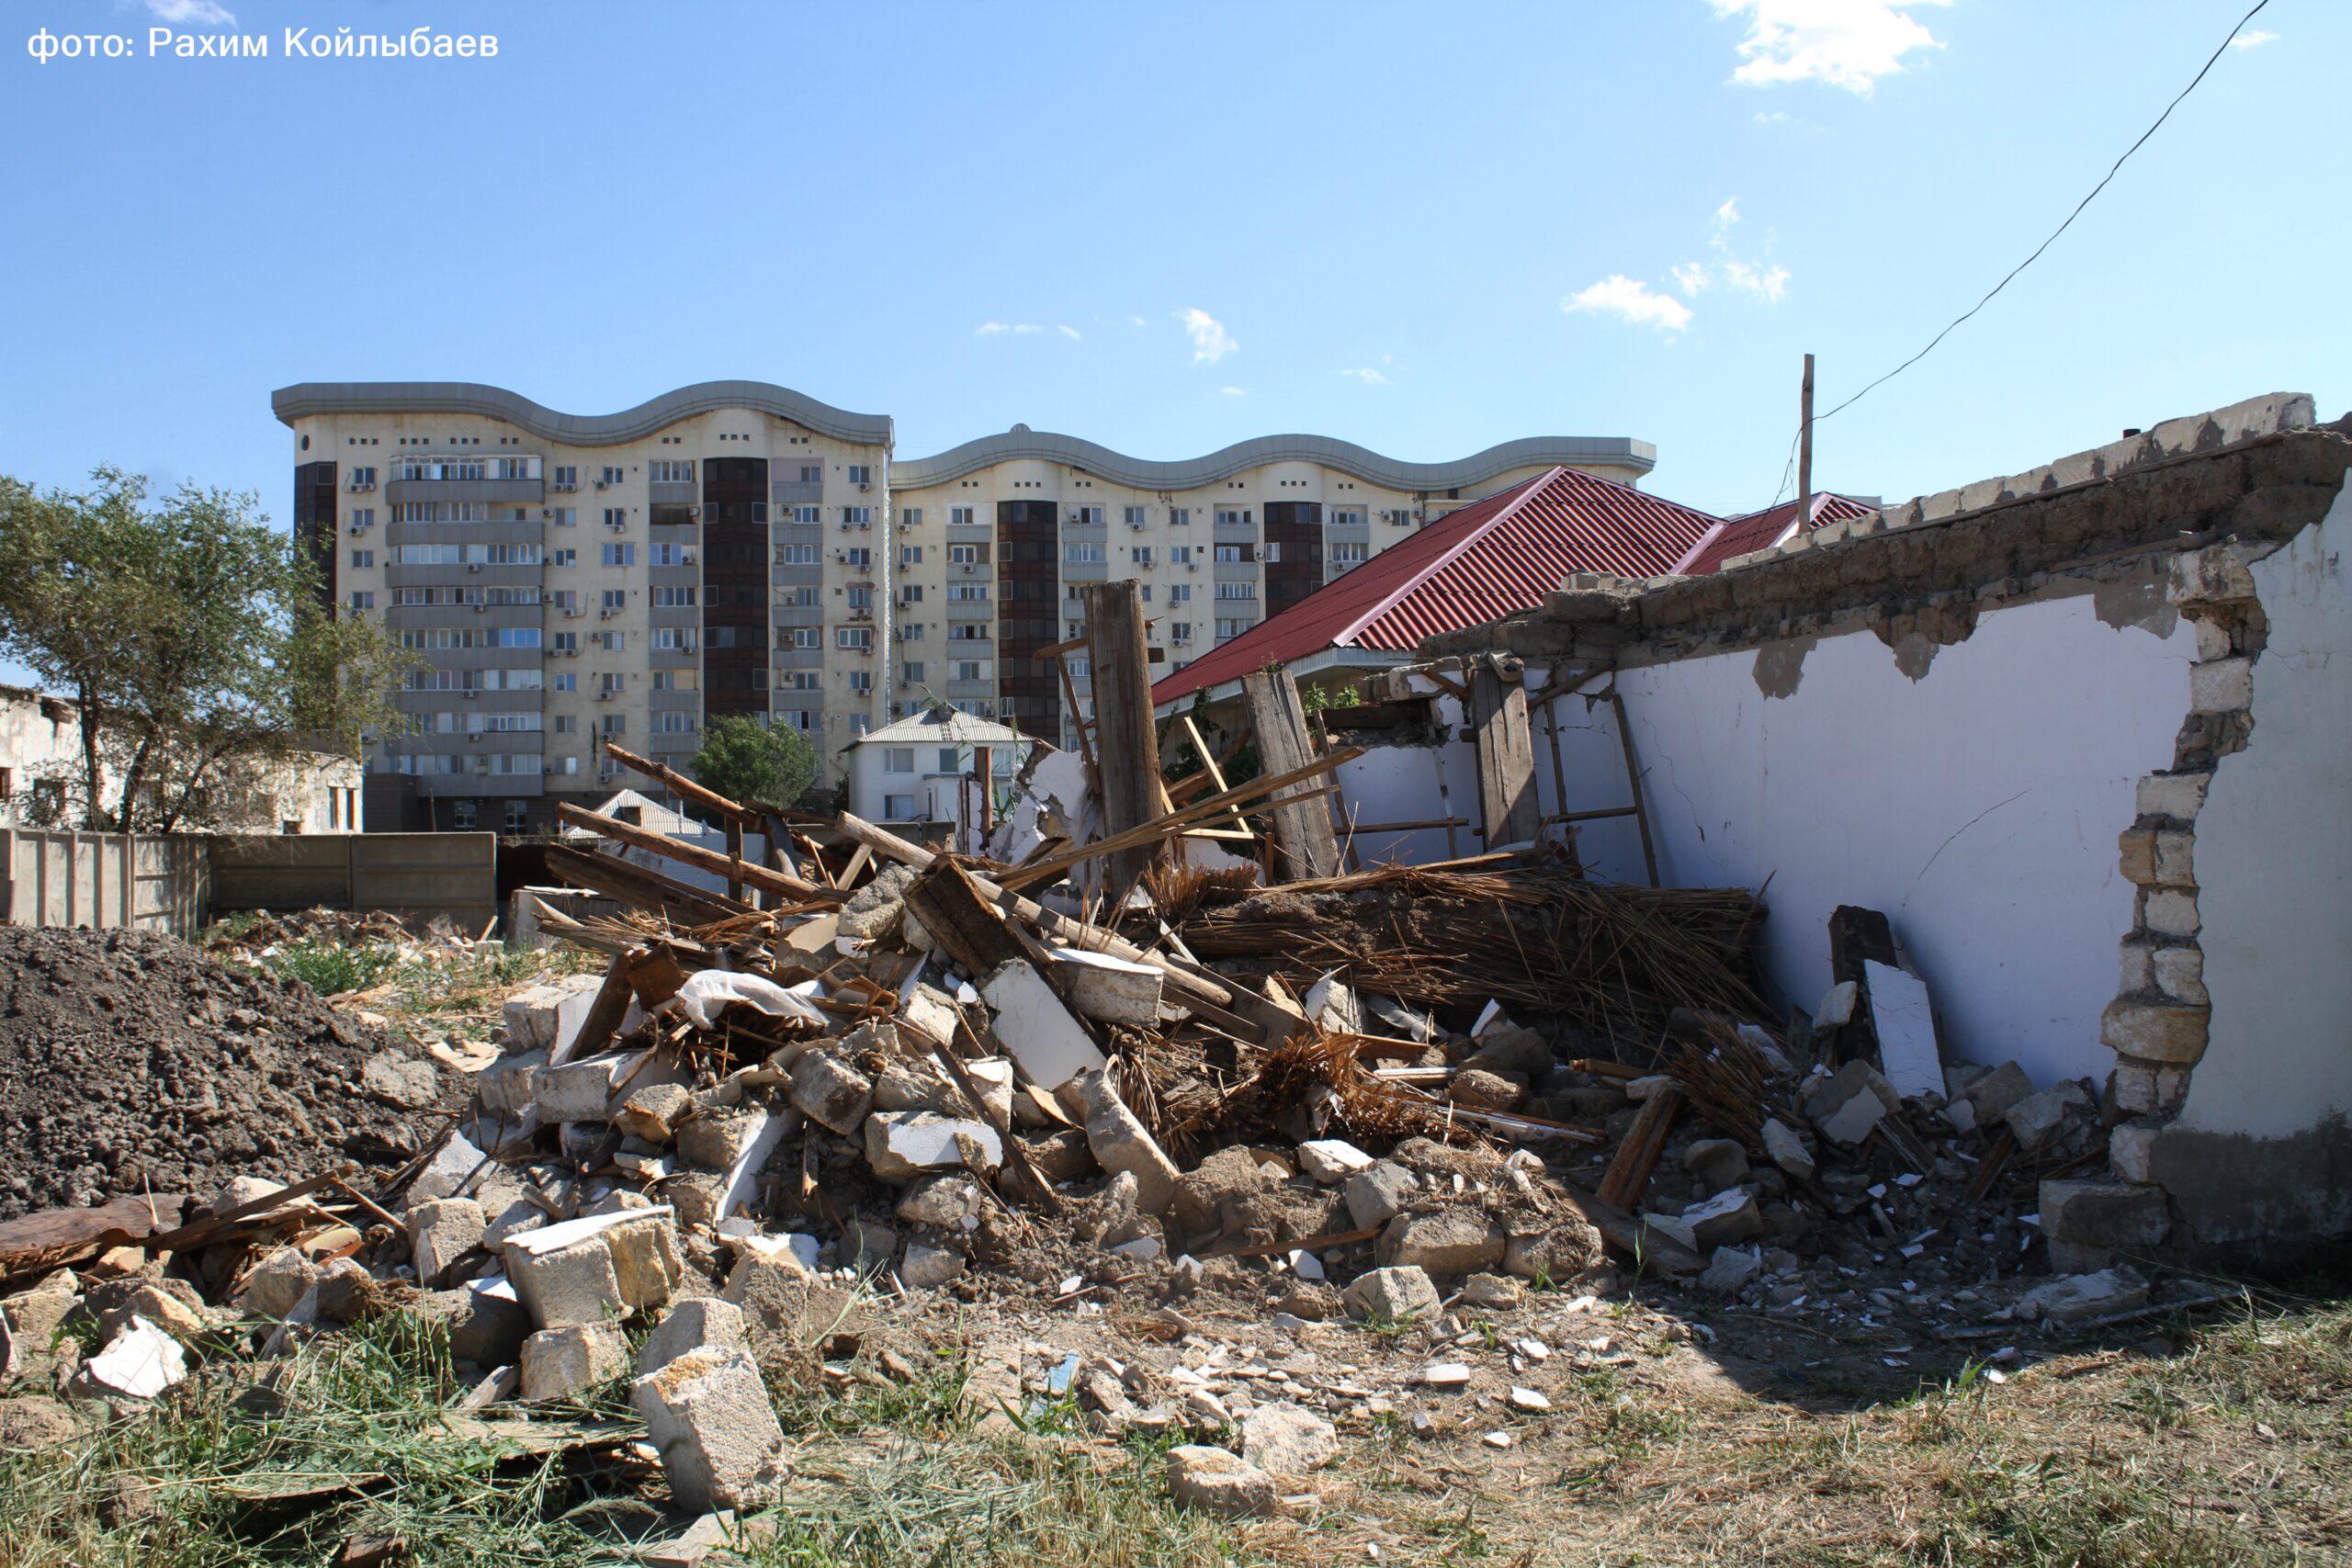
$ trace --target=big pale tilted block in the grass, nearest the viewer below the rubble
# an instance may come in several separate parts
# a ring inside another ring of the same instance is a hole
[[[743,1349],[691,1349],[637,1378],[630,1403],[680,1507],[753,1507],[793,1474],[776,1406]]]

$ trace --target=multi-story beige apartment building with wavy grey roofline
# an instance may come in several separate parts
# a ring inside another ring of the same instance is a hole
[[[1526,437],[1451,463],[1270,435],[1155,463],[1014,425],[894,461],[891,421],[757,381],[579,416],[473,383],[303,383],[294,531],[336,604],[423,661],[414,733],[369,759],[369,827],[536,827],[609,792],[597,738],[684,764],[710,715],[840,750],[950,703],[1070,741],[1037,649],[1080,583],[1136,578],[1169,668],[1435,517],[1555,465],[1625,484],[1623,437]]]

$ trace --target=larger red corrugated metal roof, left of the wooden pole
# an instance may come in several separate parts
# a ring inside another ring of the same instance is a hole
[[[1708,512],[1573,468],[1512,484],[1324,583],[1152,686],[1152,703],[1322,649],[1409,651],[1437,632],[1543,604],[1571,571],[1672,571]]]

